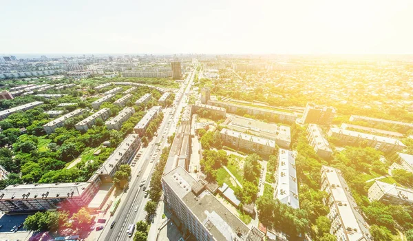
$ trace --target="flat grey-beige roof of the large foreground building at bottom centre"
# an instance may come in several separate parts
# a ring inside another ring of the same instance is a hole
[[[204,190],[195,196],[191,187],[197,181],[182,167],[176,167],[165,174],[163,179],[200,223],[209,230],[215,240],[233,241],[235,238],[246,240],[250,229],[244,222],[226,209],[209,191]]]

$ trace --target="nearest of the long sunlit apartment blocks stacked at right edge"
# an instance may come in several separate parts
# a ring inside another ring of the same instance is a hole
[[[383,152],[401,151],[406,147],[401,141],[393,138],[374,136],[335,127],[330,128],[328,136],[337,138],[342,145],[359,145],[359,143],[366,142],[368,147],[373,147]]]

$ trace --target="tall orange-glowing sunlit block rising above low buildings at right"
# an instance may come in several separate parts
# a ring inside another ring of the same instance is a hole
[[[307,103],[303,114],[303,123],[314,123],[319,125],[330,125],[335,117],[336,110],[333,107],[313,105]]]

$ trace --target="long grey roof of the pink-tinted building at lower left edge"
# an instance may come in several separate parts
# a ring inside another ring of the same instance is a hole
[[[0,191],[0,200],[66,198],[67,196],[78,197],[81,196],[89,185],[91,185],[89,182],[10,185]]]

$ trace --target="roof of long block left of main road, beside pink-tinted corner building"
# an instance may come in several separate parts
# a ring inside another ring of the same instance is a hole
[[[131,147],[131,143],[134,143],[137,138],[139,138],[138,134],[129,134],[122,143],[118,145],[118,148],[105,160],[105,163],[96,171],[96,174],[111,174],[121,156],[125,154],[127,149]]]

